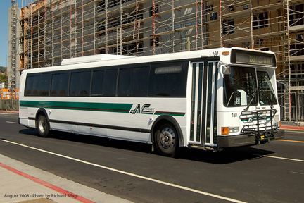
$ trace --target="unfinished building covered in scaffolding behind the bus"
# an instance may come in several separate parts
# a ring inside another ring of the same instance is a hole
[[[300,0],[27,0],[17,15],[15,68],[19,72],[56,66],[63,59],[93,54],[144,56],[215,47],[271,50],[279,61],[281,117],[304,121],[304,109],[297,107],[304,106],[303,4]]]

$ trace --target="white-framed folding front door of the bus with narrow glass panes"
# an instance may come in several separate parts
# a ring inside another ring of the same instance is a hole
[[[192,63],[191,132],[189,143],[213,147],[216,133],[218,61]]]

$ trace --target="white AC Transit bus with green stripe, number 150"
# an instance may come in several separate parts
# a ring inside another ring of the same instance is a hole
[[[149,143],[165,156],[262,144],[284,137],[276,67],[270,51],[235,47],[65,59],[23,70],[19,123],[41,137],[60,130]]]

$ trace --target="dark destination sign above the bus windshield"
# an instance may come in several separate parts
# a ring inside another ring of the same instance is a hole
[[[253,52],[243,50],[233,50],[231,55],[232,63],[246,63],[260,66],[276,67],[276,59],[274,54],[265,52]]]

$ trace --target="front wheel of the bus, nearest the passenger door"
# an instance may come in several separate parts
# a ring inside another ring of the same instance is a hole
[[[155,133],[156,149],[164,156],[174,156],[178,147],[177,131],[169,123],[160,125]]]

